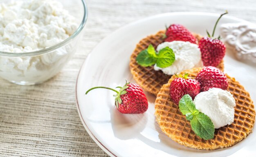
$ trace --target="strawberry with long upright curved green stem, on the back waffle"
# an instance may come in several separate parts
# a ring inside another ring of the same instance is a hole
[[[225,14],[227,14],[227,12],[221,14],[216,21],[212,35],[207,31],[208,37],[202,38],[198,43],[204,66],[216,67],[225,56],[226,46],[220,41],[220,36],[218,38],[213,38],[219,20]]]

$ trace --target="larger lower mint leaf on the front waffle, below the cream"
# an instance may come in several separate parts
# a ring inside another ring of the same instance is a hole
[[[213,139],[215,129],[211,119],[207,115],[199,112],[193,117],[190,124],[195,134],[202,139]]]

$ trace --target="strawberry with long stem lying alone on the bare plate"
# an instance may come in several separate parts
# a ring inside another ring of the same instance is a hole
[[[127,83],[124,87],[117,87],[120,90],[114,90],[109,87],[93,87],[85,94],[96,88],[105,88],[112,90],[117,94],[115,96],[115,105],[119,112],[124,114],[143,113],[148,110],[148,100],[142,88],[135,83]]]

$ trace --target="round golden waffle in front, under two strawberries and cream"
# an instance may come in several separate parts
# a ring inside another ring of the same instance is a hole
[[[195,77],[201,69],[185,70],[182,74],[186,72],[190,77]],[[229,81],[227,91],[236,100],[234,123],[215,129],[213,139],[204,140],[196,136],[186,116],[182,115],[178,105],[173,103],[169,96],[169,87],[176,78],[172,76],[168,83],[163,85],[155,100],[155,117],[162,131],[179,144],[204,150],[230,147],[247,137],[255,122],[253,101],[240,83],[227,74],[226,76]]]

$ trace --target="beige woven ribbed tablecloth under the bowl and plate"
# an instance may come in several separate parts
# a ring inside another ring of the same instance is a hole
[[[0,79],[0,157],[108,156],[83,128],[76,110],[75,83],[88,53],[119,27],[141,18],[171,11],[222,13],[227,9],[231,16],[256,22],[254,0],[87,2],[89,18],[81,46],[57,76],[34,86],[14,85]]]

